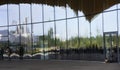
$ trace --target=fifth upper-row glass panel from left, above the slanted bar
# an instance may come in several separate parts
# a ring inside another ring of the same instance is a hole
[[[44,5],[44,20],[54,20],[54,8],[52,6]]]

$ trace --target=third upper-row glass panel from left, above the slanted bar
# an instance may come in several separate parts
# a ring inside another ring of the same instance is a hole
[[[30,23],[30,4],[20,4],[21,24]]]

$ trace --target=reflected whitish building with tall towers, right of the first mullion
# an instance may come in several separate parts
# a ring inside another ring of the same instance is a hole
[[[31,41],[31,34],[26,26],[17,26],[15,31],[10,31],[9,40],[11,43],[27,44]]]

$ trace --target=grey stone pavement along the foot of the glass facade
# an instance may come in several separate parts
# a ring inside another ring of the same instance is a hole
[[[0,61],[0,70],[120,70],[120,64],[79,60],[4,60]]]

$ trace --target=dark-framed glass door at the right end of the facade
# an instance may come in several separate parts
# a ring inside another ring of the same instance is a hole
[[[110,62],[119,61],[118,32],[104,32],[105,59]]]

